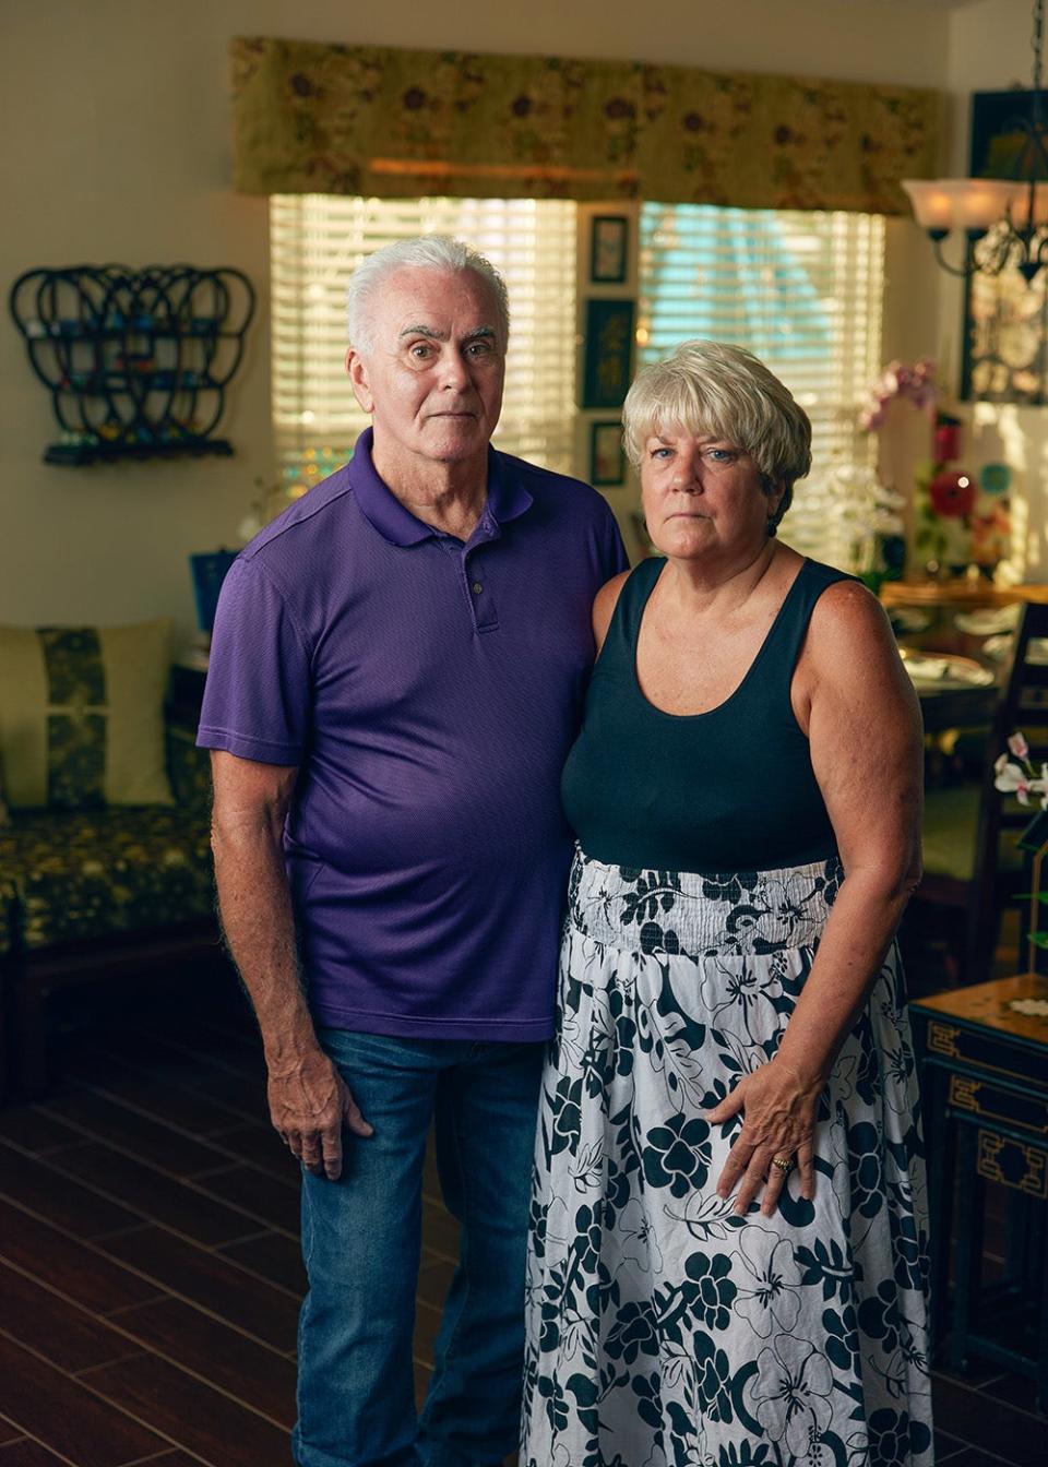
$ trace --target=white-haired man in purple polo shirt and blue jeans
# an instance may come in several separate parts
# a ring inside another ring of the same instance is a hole
[[[349,337],[371,428],[223,587],[200,728],[219,901],[302,1165],[296,1460],[490,1467],[517,1441],[561,766],[625,557],[593,490],[489,446],[508,308],[483,257],[371,255]],[[462,1241],[415,1423],[433,1118]]]

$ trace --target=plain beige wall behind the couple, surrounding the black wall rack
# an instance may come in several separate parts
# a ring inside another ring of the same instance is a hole
[[[960,18],[967,23],[966,12]],[[944,87],[957,23],[944,10],[891,0],[4,0],[4,289],[38,264],[188,260],[239,266],[258,288],[263,312],[223,422],[233,459],[90,469],[41,464],[54,433],[50,403],[21,339],[9,324],[0,329],[0,621],[119,622],[166,612],[188,641],[195,625],[186,556],[230,544],[255,475],[272,472],[266,205],[228,186],[230,35],[616,56]],[[980,81],[994,84],[997,73]],[[916,232],[897,226],[889,351],[929,349],[931,282]]]

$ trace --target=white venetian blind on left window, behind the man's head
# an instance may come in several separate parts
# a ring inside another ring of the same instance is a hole
[[[509,289],[509,356],[498,447],[571,472],[575,415],[575,205],[562,200],[270,200],[273,425],[295,490],[332,472],[367,417],[345,373],[345,288],[382,245],[455,235]]]

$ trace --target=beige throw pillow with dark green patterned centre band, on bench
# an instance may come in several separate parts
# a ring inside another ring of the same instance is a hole
[[[0,766],[16,808],[172,804],[170,623],[0,626]]]

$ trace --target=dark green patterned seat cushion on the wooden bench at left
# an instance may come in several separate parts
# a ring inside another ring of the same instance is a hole
[[[26,948],[205,917],[214,908],[208,823],[198,813],[15,813],[0,830],[0,890],[16,893]]]

